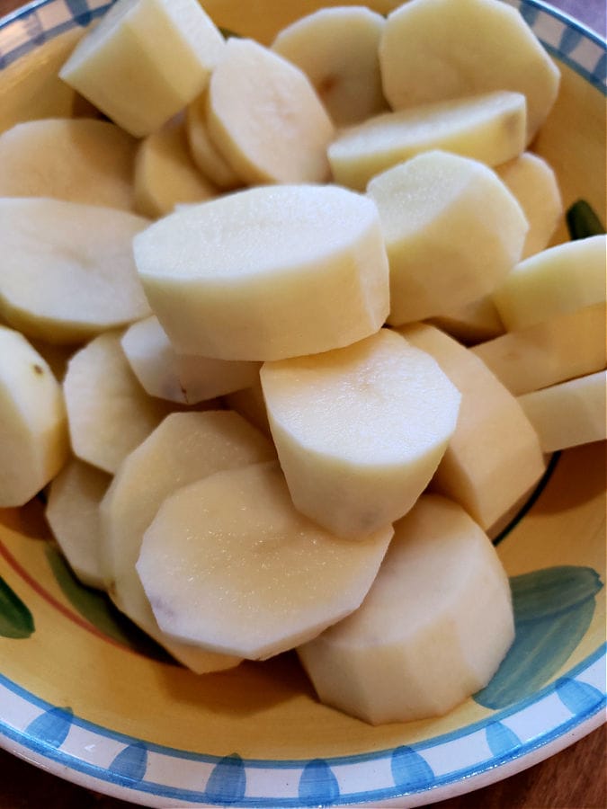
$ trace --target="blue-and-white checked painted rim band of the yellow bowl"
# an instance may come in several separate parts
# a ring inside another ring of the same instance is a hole
[[[550,54],[607,95],[604,40],[540,0],[506,2],[521,11]],[[59,33],[87,25],[107,6],[107,0],[37,0],[10,14],[0,21],[0,70]],[[326,760],[242,760],[237,754],[219,758],[157,745],[73,716],[68,708],[49,705],[2,674],[0,717],[10,705],[10,715],[27,721],[0,718],[0,734],[49,762],[124,787],[127,799],[135,791],[142,800],[155,796],[190,805],[360,804],[435,793],[438,787],[522,759],[585,725],[607,707],[606,666],[607,645],[602,645],[532,697],[473,725],[406,747]],[[81,755],[85,742],[95,741],[103,741],[105,763]],[[185,779],[177,760],[188,768]],[[451,767],[448,762],[453,760],[459,766]],[[155,776],[169,771],[176,772],[179,782],[168,783],[166,777],[161,782]],[[256,778],[260,771],[263,781]],[[197,787],[186,787],[185,781]]]

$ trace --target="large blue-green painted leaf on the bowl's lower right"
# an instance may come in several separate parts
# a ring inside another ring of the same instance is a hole
[[[514,576],[514,643],[474,699],[498,709],[531,696],[567,662],[592,621],[603,583],[590,567],[561,566]]]

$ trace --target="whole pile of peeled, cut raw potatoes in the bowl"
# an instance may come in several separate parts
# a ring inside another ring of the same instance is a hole
[[[192,671],[299,646],[353,716],[450,710],[513,640],[488,532],[604,438],[604,236],[546,249],[525,152],[558,71],[497,0],[272,48],[119,0],[60,75],[112,122],[0,136],[0,504],[54,477],[76,574]]]

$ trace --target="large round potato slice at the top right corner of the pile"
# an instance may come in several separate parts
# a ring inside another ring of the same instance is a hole
[[[395,110],[469,93],[527,100],[527,143],[557,99],[558,68],[518,11],[497,0],[413,0],[388,14],[379,45]]]

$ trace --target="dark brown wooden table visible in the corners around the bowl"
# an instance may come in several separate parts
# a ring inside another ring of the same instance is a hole
[[[552,0],[552,4],[605,35],[604,0]],[[21,0],[0,0],[0,16],[19,5]],[[0,809],[132,806],[76,787],[0,750]],[[605,806],[607,726],[603,725],[530,769],[490,787],[433,804],[433,809],[605,809]]]

